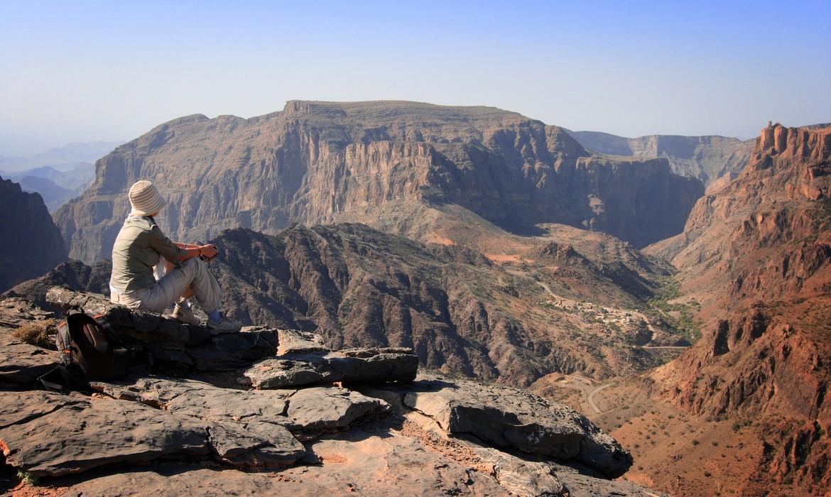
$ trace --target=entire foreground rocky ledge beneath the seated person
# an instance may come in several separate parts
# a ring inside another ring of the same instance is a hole
[[[110,307],[96,310],[121,332],[157,349],[178,343],[189,355],[190,347],[215,347],[218,339],[249,342],[203,337],[197,327],[101,304]],[[261,347],[270,356],[237,369],[202,362],[182,375],[93,382],[91,395],[33,390],[57,352],[13,332],[43,317],[19,300],[0,302],[3,474],[25,477],[0,491],[17,484],[85,496],[655,495],[608,480],[631,457],[568,406],[504,386],[416,376],[406,349],[329,351],[312,334],[262,328],[228,335],[269,337]],[[160,330],[164,340],[153,337]],[[191,333],[202,337],[193,346]]]

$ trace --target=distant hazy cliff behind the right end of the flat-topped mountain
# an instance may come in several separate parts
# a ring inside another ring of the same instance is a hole
[[[726,136],[647,135],[624,138],[597,131],[570,131],[581,145],[601,154],[638,160],[666,158],[676,175],[701,180],[708,188],[733,180],[750,161],[755,140]]]

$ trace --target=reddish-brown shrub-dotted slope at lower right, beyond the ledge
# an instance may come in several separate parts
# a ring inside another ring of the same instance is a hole
[[[622,480],[671,495],[806,495],[788,482],[762,483],[768,461],[758,421],[696,416],[650,396],[638,377],[561,375],[532,390],[585,413],[631,451]]]

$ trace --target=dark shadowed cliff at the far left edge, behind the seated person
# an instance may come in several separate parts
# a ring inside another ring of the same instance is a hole
[[[66,260],[61,232],[40,194],[27,194],[20,185],[0,178],[0,292],[35,278]]]

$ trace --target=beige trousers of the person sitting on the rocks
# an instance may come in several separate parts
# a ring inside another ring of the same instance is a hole
[[[219,309],[222,288],[219,288],[214,275],[210,273],[204,261],[198,257],[189,258],[179,264],[178,268],[173,268],[150,288],[123,294],[113,293],[110,300],[128,308],[162,313],[170,307],[170,304],[178,302],[179,297],[188,288],[194,289],[194,296],[199,301],[199,307],[206,314]]]

